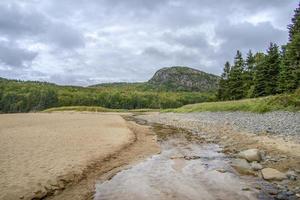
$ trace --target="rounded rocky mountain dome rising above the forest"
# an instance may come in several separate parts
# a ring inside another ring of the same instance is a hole
[[[213,91],[220,77],[189,67],[165,67],[158,70],[149,84],[171,91]]]

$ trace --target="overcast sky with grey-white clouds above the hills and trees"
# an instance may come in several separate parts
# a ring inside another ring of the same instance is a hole
[[[220,74],[237,49],[287,41],[298,0],[1,0],[0,77],[145,81],[162,67]]]

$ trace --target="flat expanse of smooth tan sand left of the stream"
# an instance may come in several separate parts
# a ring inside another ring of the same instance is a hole
[[[41,198],[135,141],[117,114],[0,115],[0,199]]]

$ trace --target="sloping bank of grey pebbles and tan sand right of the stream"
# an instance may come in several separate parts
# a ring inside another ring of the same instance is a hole
[[[219,144],[222,152],[233,159],[243,150],[258,149],[264,157],[260,163],[263,168],[271,167],[285,174],[292,172],[296,177],[293,177],[295,180],[276,182],[278,192],[288,187],[289,190],[300,193],[299,115],[288,112],[202,112],[148,114],[138,118],[148,123],[191,131],[205,143]],[[281,131],[281,124],[286,127],[285,131]],[[255,174],[261,176],[260,172]]]

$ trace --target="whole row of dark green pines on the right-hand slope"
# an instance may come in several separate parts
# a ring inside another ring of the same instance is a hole
[[[289,40],[281,48],[270,43],[266,53],[249,50],[244,59],[237,51],[233,65],[228,61],[219,82],[217,98],[236,100],[284,92],[300,86],[300,3],[288,25]]]

